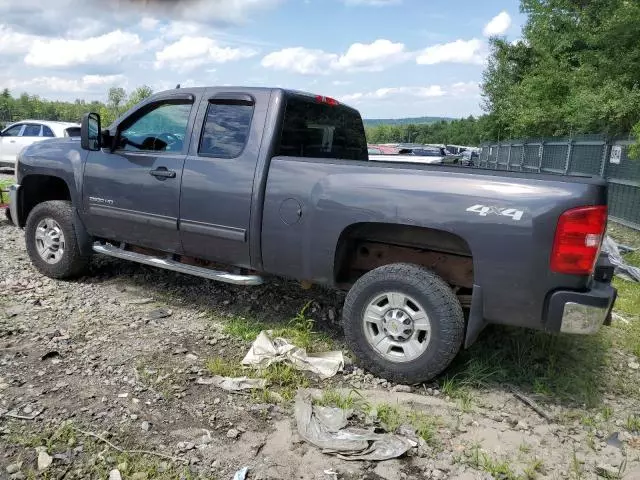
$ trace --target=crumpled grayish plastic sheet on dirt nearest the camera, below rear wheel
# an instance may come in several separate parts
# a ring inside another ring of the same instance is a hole
[[[351,411],[313,405],[321,398],[318,390],[301,389],[296,394],[295,417],[298,433],[307,442],[343,460],[381,461],[400,457],[417,448],[415,435],[409,438],[393,433],[347,427]]]

